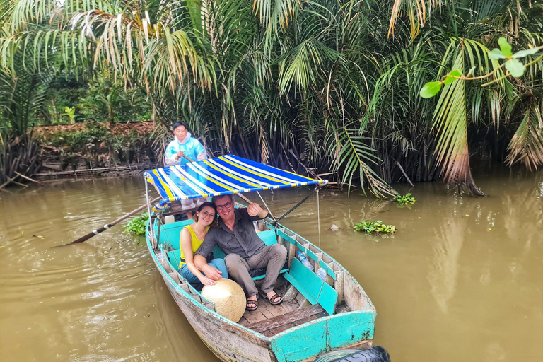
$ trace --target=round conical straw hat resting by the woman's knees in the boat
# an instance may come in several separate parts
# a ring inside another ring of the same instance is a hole
[[[216,312],[238,322],[245,313],[245,293],[233,280],[219,279],[214,286],[204,286],[202,296],[215,303]]]

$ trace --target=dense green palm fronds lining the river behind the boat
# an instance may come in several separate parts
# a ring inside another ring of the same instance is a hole
[[[472,153],[530,170],[543,164],[541,52],[522,59],[522,78],[489,57],[500,37],[513,52],[543,45],[537,1],[0,5],[4,145],[25,134],[50,79],[107,69],[114,82],[145,90],[163,125],[157,136],[181,118],[216,154],[332,170],[378,197],[395,196],[388,184],[402,177],[440,175],[482,195]],[[471,81],[419,96],[450,71]],[[18,89],[23,78],[33,84],[27,92]],[[98,94],[104,104],[108,94]],[[14,104],[25,105],[23,115]]]

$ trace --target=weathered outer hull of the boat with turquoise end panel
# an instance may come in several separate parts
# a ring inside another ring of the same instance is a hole
[[[222,361],[313,361],[334,349],[366,349],[371,346],[375,308],[369,300],[364,304],[366,308],[322,317],[266,337],[207,308],[199,296],[181,287],[177,272],[171,269],[168,262],[158,261],[149,238],[147,245],[175,303],[204,344]],[[351,296],[346,295],[346,298],[359,298],[356,293],[365,296],[358,283],[344,269],[338,275],[346,284],[350,284]],[[349,289],[349,285],[345,288]]]

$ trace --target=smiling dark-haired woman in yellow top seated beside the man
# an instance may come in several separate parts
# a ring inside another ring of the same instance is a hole
[[[216,214],[215,205],[211,202],[204,202],[204,204],[200,205],[194,216],[192,216],[194,223],[185,226],[181,230],[179,272],[190,284],[202,283],[204,286],[212,286],[216,283],[216,281],[207,278],[202,271],[198,270],[194,265],[193,259],[194,252],[204,242],[209,227],[217,225]],[[228,270],[226,270],[226,264],[224,264],[223,259],[213,259],[207,264],[216,267],[223,278],[228,278]]]

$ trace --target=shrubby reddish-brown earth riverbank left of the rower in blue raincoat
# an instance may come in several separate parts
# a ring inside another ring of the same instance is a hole
[[[33,177],[119,177],[161,165],[155,122],[86,122],[38,126],[42,168]]]

